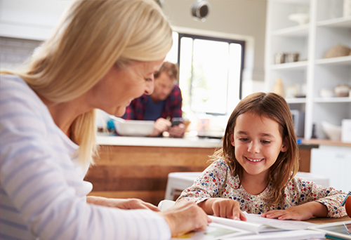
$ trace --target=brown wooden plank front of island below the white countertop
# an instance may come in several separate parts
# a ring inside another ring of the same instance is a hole
[[[85,180],[92,196],[138,198],[154,205],[164,199],[168,173],[201,172],[216,148],[104,145]]]

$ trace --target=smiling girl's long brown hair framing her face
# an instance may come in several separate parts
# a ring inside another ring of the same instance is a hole
[[[235,157],[235,147],[232,146],[230,138],[234,134],[237,117],[244,113],[257,114],[276,121],[283,142],[288,148],[286,152],[279,153],[277,161],[270,167],[268,173],[272,194],[265,200],[268,204],[278,204],[284,198],[284,189],[289,180],[298,172],[298,145],[291,112],[284,98],[275,93],[253,93],[241,100],[228,121],[223,137],[223,148],[216,151],[211,158],[224,159],[232,175],[239,175],[240,181],[242,180],[244,169]]]

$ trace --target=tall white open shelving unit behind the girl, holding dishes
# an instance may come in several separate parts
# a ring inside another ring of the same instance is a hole
[[[307,24],[289,20],[293,13],[308,13]],[[265,53],[265,91],[277,79],[284,89],[296,86],[300,97],[286,98],[291,109],[305,112],[304,137],[310,139],[312,126],[318,138],[326,138],[321,122],[340,126],[351,119],[350,98],[321,98],[322,88],[351,85],[351,55],[324,58],[329,48],[343,44],[351,48],[351,16],[343,17],[343,0],[268,0]],[[298,62],[274,64],[274,53],[299,53]]]

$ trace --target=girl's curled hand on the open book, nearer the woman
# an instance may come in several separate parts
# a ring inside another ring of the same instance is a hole
[[[246,221],[244,213],[240,210],[239,202],[233,199],[207,199],[198,205],[209,215]]]

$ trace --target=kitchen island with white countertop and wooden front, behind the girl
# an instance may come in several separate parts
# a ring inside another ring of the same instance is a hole
[[[143,138],[98,136],[99,159],[85,180],[93,196],[138,198],[157,205],[164,199],[168,173],[201,172],[208,156],[222,146],[214,138]],[[310,172],[315,145],[300,145],[300,171]]]

